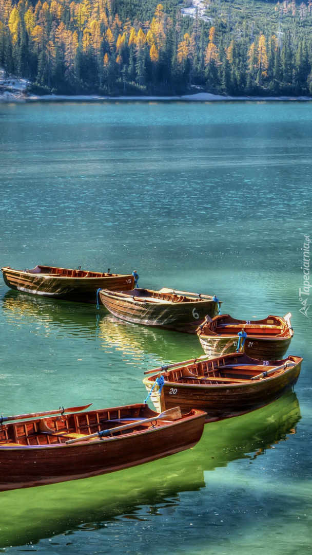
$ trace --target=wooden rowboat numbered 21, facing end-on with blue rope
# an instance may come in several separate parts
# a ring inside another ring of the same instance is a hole
[[[206,355],[214,357],[243,351],[255,359],[280,360],[285,355],[294,332],[291,314],[264,320],[234,320],[228,314],[207,317],[197,329]]]

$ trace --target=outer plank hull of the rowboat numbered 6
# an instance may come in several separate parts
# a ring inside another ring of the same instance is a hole
[[[103,291],[99,291],[99,296],[105,308],[122,320],[188,334],[195,334],[198,322],[206,315],[215,316],[218,311],[218,303],[210,300],[152,304],[144,300],[136,301],[132,297],[121,299],[116,295],[114,298]]]

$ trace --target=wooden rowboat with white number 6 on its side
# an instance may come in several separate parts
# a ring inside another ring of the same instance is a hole
[[[221,301],[217,297],[176,291],[163,287],[160,291],[99,291],[106,309],[127,322],[145,326],[160,326],[170,330],[195,334],[198,322],[205,315],[215,316]]]

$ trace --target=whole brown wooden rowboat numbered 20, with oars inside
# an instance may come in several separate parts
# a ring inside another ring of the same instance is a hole
[[[295,385],[302,359],[259,361],[244,352],[177,362],[144,374],[157,411],[180,406],[207,413],[206,422],[243,415],[277,400]],[[148,398],[148,397],[147,397]],[[147,399],[146,399],[147,401]]]

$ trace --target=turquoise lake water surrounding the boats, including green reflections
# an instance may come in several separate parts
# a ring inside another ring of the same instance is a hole
[[[136,269],[238,319],[290,311],[304,359],[295,392],[206,425],[192,450],[0,493],[0,551],[311,552],[311,129],[311,103],[0,105],[1,267]],[[2,415],[142,402],[145,370],[203,354],[196,336],[3,281],[0,326]]]

